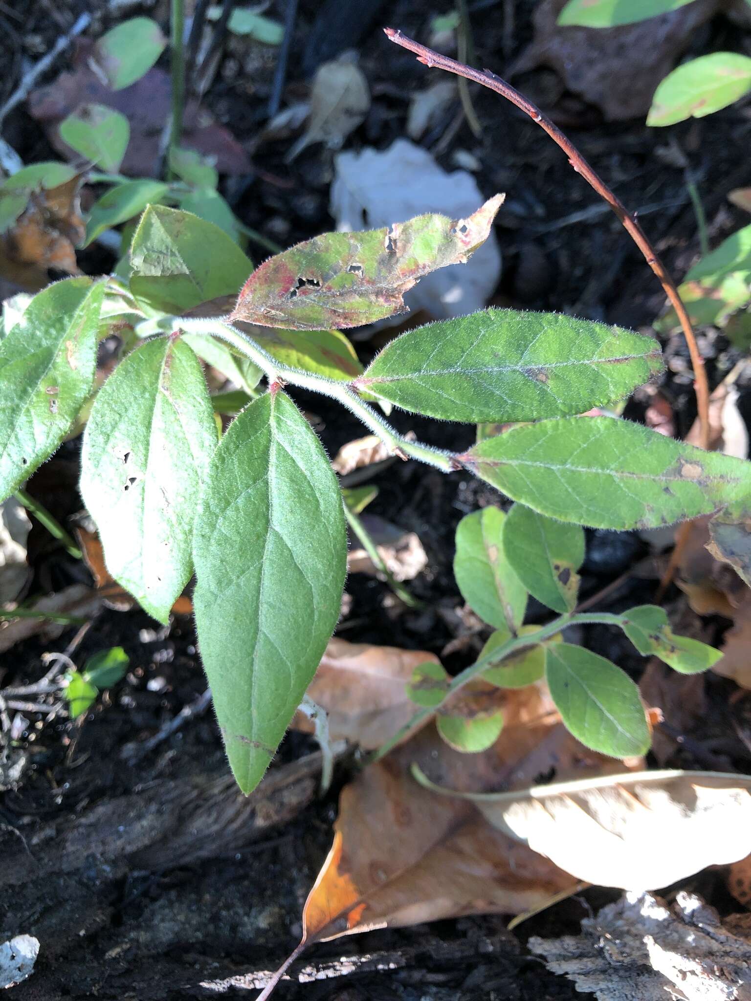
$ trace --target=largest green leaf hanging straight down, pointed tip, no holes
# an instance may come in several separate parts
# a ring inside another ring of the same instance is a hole
[[[336,476],[281,391],[230,424],[201,496],[193,595],[229,764],[260,781],[339,615],[346,533]]]

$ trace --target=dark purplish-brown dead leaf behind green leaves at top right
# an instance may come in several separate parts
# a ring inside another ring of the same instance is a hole
[[[644,119],[658,83],[676,65],[700,25],[725,6],[724,0],[695,0],[668,14],[618,28],[560,27],[558,15],[566,2],[536,4],[533,42],[507,77],[549,66],[569,90],[597,105],[606,121]]]

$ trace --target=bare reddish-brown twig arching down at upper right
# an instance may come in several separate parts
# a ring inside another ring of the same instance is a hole
[[[510,84],[502,80],[501,77],[496,76],[496,74],[491,72],[491,70],[487,69],[481,71],[473,69],[471,66],[466,66],[464,63],[457,62],[456,59],[449,59],[448,56],[442,56],[438,52],[434,52],[433,49],[429,49],[427,46],[421,45],[419,42],[414,42],[412,38],[407,38],[407,36],[403,35],[401,31],[395,31],[394,28],[384,28],[384,31],[393,42],[397,43],[397,45],[401,45],[402,48],[408,49],[410,52],[414,52],[418,57],[418,60],[425,63],[426,66],[443,69],[446,70],[447,73],[455,73],[457,76],[464,76],[468,80],[474,80],[475,83],[480,83],[484,87],[489,87],[491,90],[495,90],[497,94],[501,94],[501,96],[505,97],[507,101],[511,101],[512,104],[515,104],[520,110],[524,111],[525,114],[529,115],[530,118],[532,118],[532,120],[542,129],[545,129],[551,139],[558,143],[564,153],[566,153],[569,158],[569,163],[572,165],[574,170],[576,170],[578,174],[581,174],[585,180],[589,181],[600,197],[610,205],[618,218],[621,220],[624,228],[628,231],[631,238],[644,254],[645,260],[649,266],[660,279],[662,287],[665,289],[665,294],[672,302],[673,308],[675,309],[678,319],[681,322],[681,326],[683,327],[683,333],[686,337],[686,343],[688,344],[689,352],[691,354],[691,364],[694,369],[694,388],[696,390],[696,405],[699,414],[700,427],[699,444],[702,448],[706,448],[709,445],[709,385],[707,384],[707,373],[704,370],[704,359],[699,352],[699,345],[696,343],[696,335],[694,334],[693,327],[691,326],[691,320],[686,312],[686,307],[681,301],[681,296],[678,294],[678,289],[676,288],[673,279],[665,269],[664,264],[658,257],[654,247],[645,235],[644,230],[637,222],[636,215],[631,215],[626,211],[623,202],[615,196],[603,179],[592,169],[589,163],[587,163],[579,150],[569,141],[569,139],[567,139],[563,132],[553,124],[550,118],[546,117],[542,111],[532,103],[532,101],[528,101],[526,97],[520,94],[518,90],[515,90]]]

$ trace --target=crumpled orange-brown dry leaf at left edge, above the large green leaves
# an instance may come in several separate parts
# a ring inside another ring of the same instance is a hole
[[[0,235],[0,275],[35,292],[49,284],[48,268],[80,274],[75,246],[86,227],[78,198],[81,177],[34,191],[13,225]]]

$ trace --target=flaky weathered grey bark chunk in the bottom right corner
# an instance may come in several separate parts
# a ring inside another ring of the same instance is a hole
[[[530,949],[546,966],[599,1001],[748,1001],[751,919],[720,921],[701,897],[679,893],[668,907],[652,894],[626,894],[582,935],[533,936]]]

